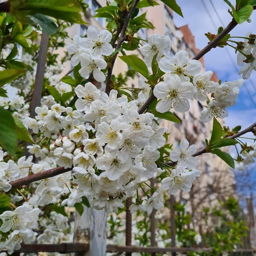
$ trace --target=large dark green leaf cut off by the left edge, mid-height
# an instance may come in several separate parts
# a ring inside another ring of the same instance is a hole
[[[15,155],[18,146],[16,126],[9,111],[0,107],[0,145],[11,155]]]

